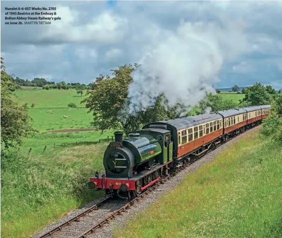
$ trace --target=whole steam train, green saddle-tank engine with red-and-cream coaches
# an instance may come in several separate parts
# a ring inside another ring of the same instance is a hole
[[[270,110],[260,105],[157,121],[125,138],[116,131],[104,153],[105,172],[90,177],[89,187],[136,197],[191,158],[261,123]]]

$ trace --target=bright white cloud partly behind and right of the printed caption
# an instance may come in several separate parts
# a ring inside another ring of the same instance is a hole
[[[109,11],[93,17],[85,23],[79,22],[80,13],[66,6],[58,6],[61,20],[56,20],[41,35],[42,39],[58,37],[64,42],[97,41],[111,43],[123,38],[127,20]]]

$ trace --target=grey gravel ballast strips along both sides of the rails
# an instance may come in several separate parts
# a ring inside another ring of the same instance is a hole
[[[256,126],[255,128],[252,128],[252,129],[238,135],[237,137],[231,139],[230,141],[226,142],[225,144],[220,145],[215,150],[210,151],[209,153],[207,153],[206,155],[204,155],[203,157],[201,157],[200,159],[196,160],[194,163],[189,165],[187,168],[178,172],[171,179],[168,179],[167,181],[165,181],[164,184],[160,184],[157,188],[155,188],[154,190],[149,192],[146,196],[144,196],[142,199],[140,199],[140,202],[134,202],[134,204],[132,206],[130,206],[131,209],[127,209],[128,212],[123,212],[123,215],[116,216],[116,218],[114,220],[111,220],[109,224],[103,225],[103,227],[96,230],[95,233],[90,234],[87,237],[89,237],[89,238],[94,238],[94,237],[95,238],[96,237],[97,238],[109,238],[109,237],[112,237],[114,227],[117,227],[117,228],[123,227],[128,219],[132,218],[134,215],[136,215],[138,213],[143,212],[150,204],[152,204],[160,196],[164,195],[166,192],[170,191],[173,187],[175,187],[177,184],[179,184],[183,180],[184,176],[187,173],[190,173],[190,172],[196,170],[199,166],[210,162],[211,160],[213,160],[215,158],[215,156],[217,154],[219,154],[222,150],[224,150],[230,144],[234,143],[238,139],[247,135],[249,132],[256,131],[260,128],[261,128],[260,125]],[[53,223],[49,224],[41,232],[35,232],[30,237],[31,238],[38,237],[40,234],[47,232],[48,230],[54,228],[58,224],[60,224],[64,221],[68,220],[69,218],[79,214],[80,212],[86,210],[88,207],[94,205],[95,203],[99,202],[102,199],[103,199],[103,197],[86,204],[83,208],[69,212],[67,215],[62,217],[59,222],[53,222]],[[108,211],[113,212],[114,210],[119,209],[123,204],[124,204],[124,202],[122,202],[122,201],[119,201],[119,202],[112,201],[109,204],[105,205],[104,208],[106,208]],[[103,207],[99,208],[96,212],[98,212],[100,209],[103,209]],[[77,223],[80,223],[80,222],[77,222]],[[93,224],[89,223],[89,228],[92,225]],[[76,233],[76,234],[78,235],[79,233]],[[70,236],[72,236],[72,235],[70,235]]]

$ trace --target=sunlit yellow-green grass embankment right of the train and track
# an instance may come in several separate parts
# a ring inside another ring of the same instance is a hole
[[[281,143],[248,132],[114,236],[282,237],[281,187]]]

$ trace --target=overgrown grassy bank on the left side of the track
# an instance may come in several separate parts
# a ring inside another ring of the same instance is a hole
[[[107,145],[1,156],[1,237],[28,237],[69,210],[102,196],[103,192],[88,189],[87,180],[104,170]]]

